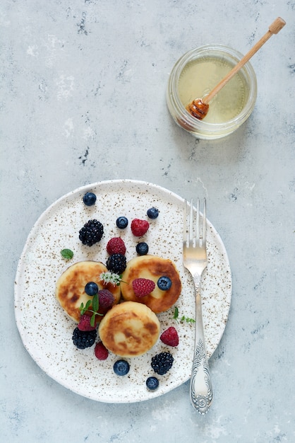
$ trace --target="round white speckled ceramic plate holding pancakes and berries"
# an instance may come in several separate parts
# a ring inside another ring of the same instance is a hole
[[[85,192],[97,195],[92,207],[83,204]],[[209,203],[210,205],[210,203]],[[149,207],[159,209],[159,217],[148,219]],[[124,230],[116,227],[116,218],[128,218]],[[83,246],[78,231],[88,219],[104,225],[104,237],[92,247]],[[142,238],[131,233],[133,218],[148,219],[150,229]],[[159,314],[162,330],[175,326],[179,346],[167,347],[160,340],[142,357],[127,359],[130,372],[116,376],[113,364],[118,359],[110,354],[103,362],[94,355],[94,347],[78,350],[72,342],[76,324],[68,318],[55,298],[55,284],[66,267],[80,260],[107,260],[109,238],[121,236],[126,243],[126,258],[136,256],[136,244],[146,241],[149,253],[170,258],[176,263],[182,281],[182,292],[176,306],[179,316],[193,318],[195,301],[193,282],[182,264],[183,199],[169,190],[134,180],[109,180],[78,188],[54,202],[33,226],[18,263],[15,283],[16,323],[23,344],[35,362],[52,379],[66,388],[93,400],[106,403],[131,403],[161,396],[180,386],[191,376],[194,326],[177,323],[174,307]],[[208,265],[203,277],[203,317],[208,357],[215,351],[224,332],[231,302],[231,271],[227,252],[215,228],[207,222]],[[69,248],[71,260],[61,257],[61,249]],[[151,357],[169,350],[174,364],[167,374],[158,376],[159,388],[148,391],[145,381],[156,375]]]

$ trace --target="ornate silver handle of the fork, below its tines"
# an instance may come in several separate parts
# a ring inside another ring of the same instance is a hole
[[[195,283],[195,347],[191,372],[190,397],[193,407],[205,414],[212,403],[212,382],[205,348],[200,277],[193,277]]]

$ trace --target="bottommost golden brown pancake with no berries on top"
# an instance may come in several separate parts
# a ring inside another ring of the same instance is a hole
[[[98,333],[109,351],[121,357],[137,357],[155,345],[159,331],[159,320],[148,306],[124,301],[106,313]]]

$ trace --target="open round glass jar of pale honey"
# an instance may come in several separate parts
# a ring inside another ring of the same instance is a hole
[[[169,76],[167,105],[177,125],[199,139],[219,139],[234,132],[251,115],[257,80],[250,62],[212,98],[203,120],[186,110],[195,98],[204,98],[243,57],[222,45],[190,50],[176,62]]]

